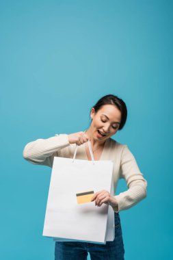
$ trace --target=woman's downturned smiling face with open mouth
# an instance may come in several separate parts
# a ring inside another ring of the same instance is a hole
[[[95,112],[94,107],[92,107],[91,118],[92,138],[99,142],[105,142],[118,131],[121,112],[115,105],[103,105],[98,112]]]

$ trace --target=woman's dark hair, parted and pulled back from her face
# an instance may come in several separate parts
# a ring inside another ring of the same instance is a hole
[[[112,94],[103,96],[97,101],[96,105],[94,105],[95,112],[98,112],[98,110],[101,109],[103,105],[115,105],[120,110],[121,122],[118,130],[121,130],[127,120],[127,106],[124,101],[122,101],[122,99],[119,99],[118,96],[114,96]]]

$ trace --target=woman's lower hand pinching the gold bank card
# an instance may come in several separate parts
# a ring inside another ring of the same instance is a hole
[[[103,203],[111,205],[111,207],[117,207],[118,206],[118,201],[114,196],[111,196],[107,190],[101,190],[101,192],[96,192],[92,196],[92,200],[95,200],[95,205],[98,207],[101,207]]]

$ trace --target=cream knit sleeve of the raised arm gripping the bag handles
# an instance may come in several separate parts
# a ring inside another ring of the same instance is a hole
[[[53,166],[54,156],[58,156],[58,151],[66,146],[70,146],[68,135],[59,134],[47,139],[38,139],[29,142],[23,150],[23,158],[31,164]]]

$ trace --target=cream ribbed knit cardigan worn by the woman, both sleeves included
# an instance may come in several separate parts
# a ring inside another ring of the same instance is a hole
[[[23,150],[23,157],[31,164],[52,168],[55,156],[72,158],[75,153],[75,146],[76,144],[68,142],[68,135],[56,134],[51,138],[29,142]],[[78,147],[76,159],[88,159],[85,153],[85,144]],[[107,139],[100,160],[109,159],[114,161],[115,194],[119,179],[123,178],[128,187],[127,191],[115,196],[118,207],[113,207],[113,209],[119,212],[133,207],[146,197],[147,181],[140,172],[135,157],[127,145],[120,144],[111,138]]]

